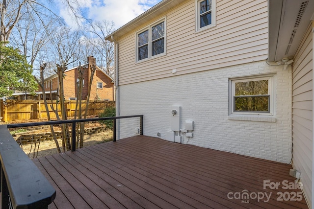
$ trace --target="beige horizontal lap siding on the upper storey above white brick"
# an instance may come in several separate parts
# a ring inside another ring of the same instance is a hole
[[[135,64],[135,32],[166,17],[166,55]],[[120,85],[212,70],[267,58],[267,1],[216,3],[216,26],[195,32],[195,1],[187,0],[119,38]],[[175,74],[172,69],[176,69]]]

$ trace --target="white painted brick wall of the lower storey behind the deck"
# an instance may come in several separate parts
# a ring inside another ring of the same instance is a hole
[[[276,73],[275,117],[264,121],[251,121],[247,117],[231,119],[228,116],[229,78],[265,73]],[[170,131],[173,105],[181,106],[182,128],[185,120],[194,120],[193,138],[184,137],[183,143],[290,163],[290,68],[283,70],[283,66],[269,66],[260,61],[120,86],[120,115],[143,114],[146,136],[157,137],[160,132],[165,139]],[[129,136],[128,132],[121,121],[120,138]]]

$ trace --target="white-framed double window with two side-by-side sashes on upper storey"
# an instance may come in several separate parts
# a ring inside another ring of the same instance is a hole
[[[136,62],[166,53],[166,20],[163,18],[136,32]]]

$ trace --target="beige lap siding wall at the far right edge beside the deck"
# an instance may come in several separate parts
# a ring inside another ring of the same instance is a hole
[[[313,39],[309,27],[295,54],[292,70],[292,164],[301,171],[300,181],[312,204],[313,159]]]

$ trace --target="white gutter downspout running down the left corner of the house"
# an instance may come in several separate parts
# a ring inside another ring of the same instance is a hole
[[[115,78],[114,78],[114,87],[116,92],[116,116],[120,116],[120,91],[119,91],[119,44],[118,42],[113,38],[113,35],[111,35],[111,39],[114,42],[115,45]],[[116,139],[120,139],[120,120],[116,120]]]

